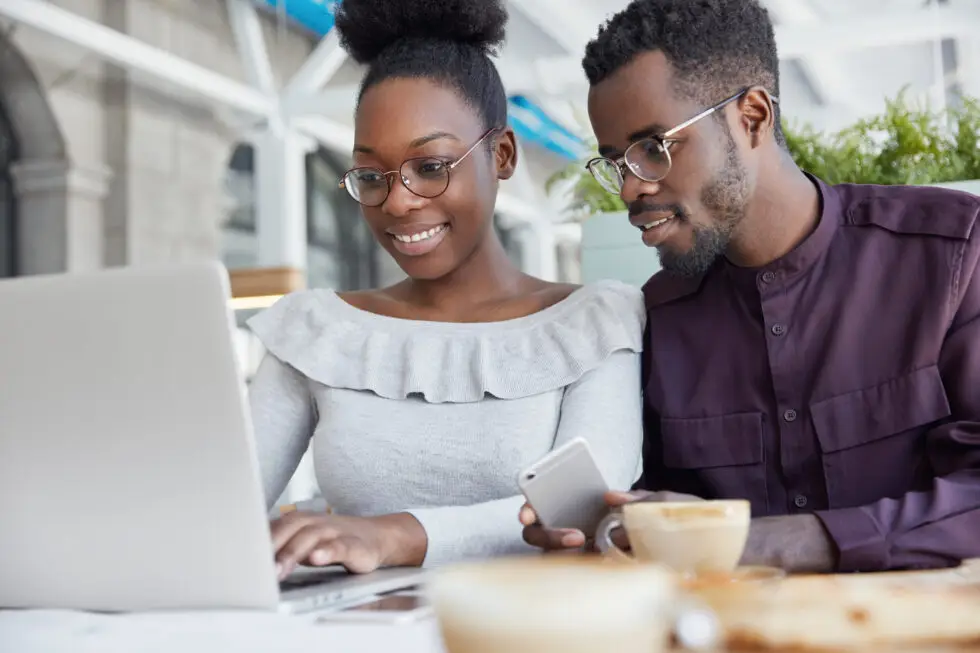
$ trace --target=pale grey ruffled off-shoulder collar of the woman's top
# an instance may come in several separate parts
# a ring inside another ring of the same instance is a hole
[[[541,310],[497,322],[379,314],[376,293],[307,290],[248,321],[266,350],[330,387],[464,403],[557,390],[642,349],[642,293],[618,282],[542,288]]]

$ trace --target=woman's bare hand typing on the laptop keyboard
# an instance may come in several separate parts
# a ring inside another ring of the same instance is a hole
[[[271,530],[280,580],[299,564],[339,564],[356,574],[378,567],[417,567],[428,545],[425,529],[407,513],[344,517],[290,512],[273,521]]]

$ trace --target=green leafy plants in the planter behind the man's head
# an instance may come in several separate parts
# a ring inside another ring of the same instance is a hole
[[[836,133],[783,123],[790,154],[802,169],[828,183],[934,184],[980,179],[980,100],[936,112],[912,105],[903,90],[879,116]],[[594,143],[593,143],[593,152]],[[592,155],[594,156],[594,154]],[[583,219],[625,209],[602,189],[581,162],[553,175],[548,192],[570,184],[566,210]]]

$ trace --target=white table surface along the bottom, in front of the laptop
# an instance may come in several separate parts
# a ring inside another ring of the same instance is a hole
[[[257,612],[91,614],[0,610],[3,653],[443,653],[435,621],[315,623]]]

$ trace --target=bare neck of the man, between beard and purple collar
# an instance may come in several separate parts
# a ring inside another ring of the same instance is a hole
[[[820,193],[788,154],[759,171],[746,215],[728,247],[728,260],[758,268],[806,240],[820,221]]]

